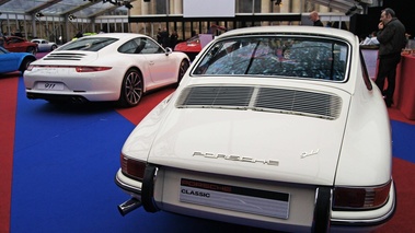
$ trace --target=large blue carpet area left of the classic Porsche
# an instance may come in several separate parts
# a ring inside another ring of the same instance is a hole
[[[115,185],[114,176],[134,127],[105,104],[70,107],[27,100],[21,79],[11,232],[250,231],[166,212],[151,214],[142,208],[122,217],[116,206],[128,196]]]

